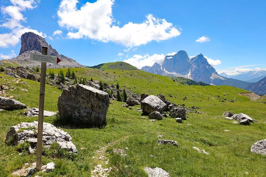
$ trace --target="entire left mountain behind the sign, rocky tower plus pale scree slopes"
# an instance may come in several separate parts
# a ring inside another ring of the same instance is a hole
[[[64,67],[86,67],[82,64],[79,64],[75,60],[66,57],[58,52],[49,45],[45,38],[33,33],[27,32],[21,36],[21,49],[19,55],[15,58],[12,58],[11,61],[17,63],[20,66],[41,66],[40,62],[30,61],[30,53],[42,53],[42,46],[48,47],[48,55],[57,56],[60,58],[61,62],[58,64],[48,63],[47,68],[64,68]]]

